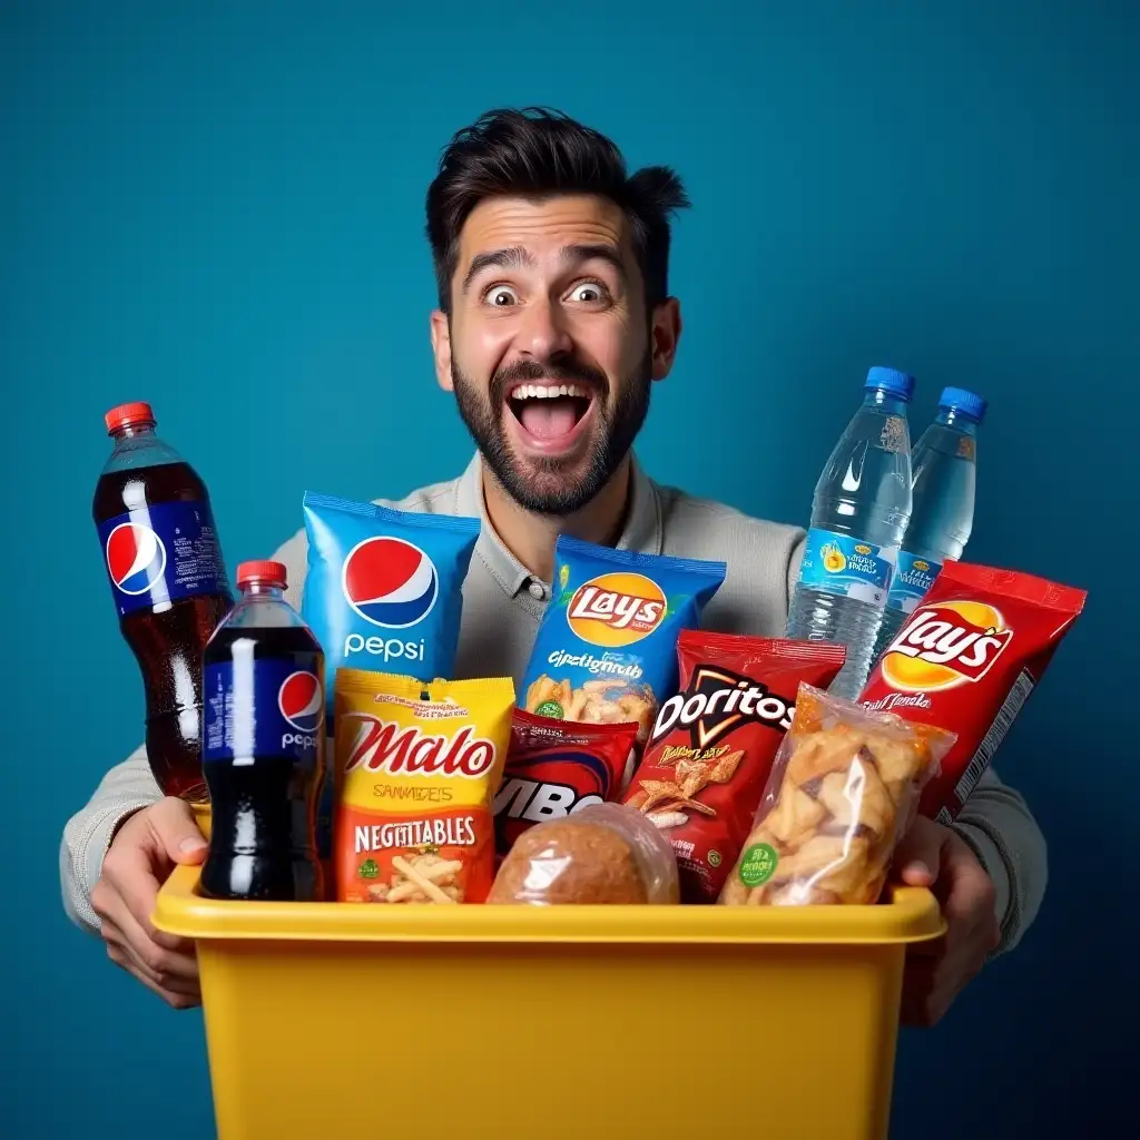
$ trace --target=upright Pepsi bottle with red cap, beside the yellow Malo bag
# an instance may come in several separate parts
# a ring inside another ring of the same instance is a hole
[[[211,821],[201,889],[212,898],[323,894],[316,812],[325,654],[285,601],[285,585],[280,562],[243,562],[241,597],[202,657]]]

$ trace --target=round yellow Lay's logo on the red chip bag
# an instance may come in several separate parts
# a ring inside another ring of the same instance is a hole
[[[882,679],[910,692],[980,681],[1012,640],[1002,614],[983,602],[921,606],[887,646]]]

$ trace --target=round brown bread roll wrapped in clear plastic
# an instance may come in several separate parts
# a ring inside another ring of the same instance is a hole
[[[591,804],[523,832],[488,903],[676,903],[673,845],[640,812]]]

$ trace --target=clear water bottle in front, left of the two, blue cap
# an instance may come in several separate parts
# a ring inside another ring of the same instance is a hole
[[[872,368],[863,388],[863,406],[815,484],[812,528],[788,616],[789,637],[847,646],[831,692],[852,700],[870,671],[911,514],[906,405],[914,378]]]

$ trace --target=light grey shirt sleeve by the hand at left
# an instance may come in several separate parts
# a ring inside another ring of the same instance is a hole
[[[87,805],[64,828],[59,846],[59,882],[64,910],[72,922],[99,933],[99,917],[91,909],[91,888],[103,871],[103,856],[119,825],[141,807],[162,799],[140,746],[99,782]]]

